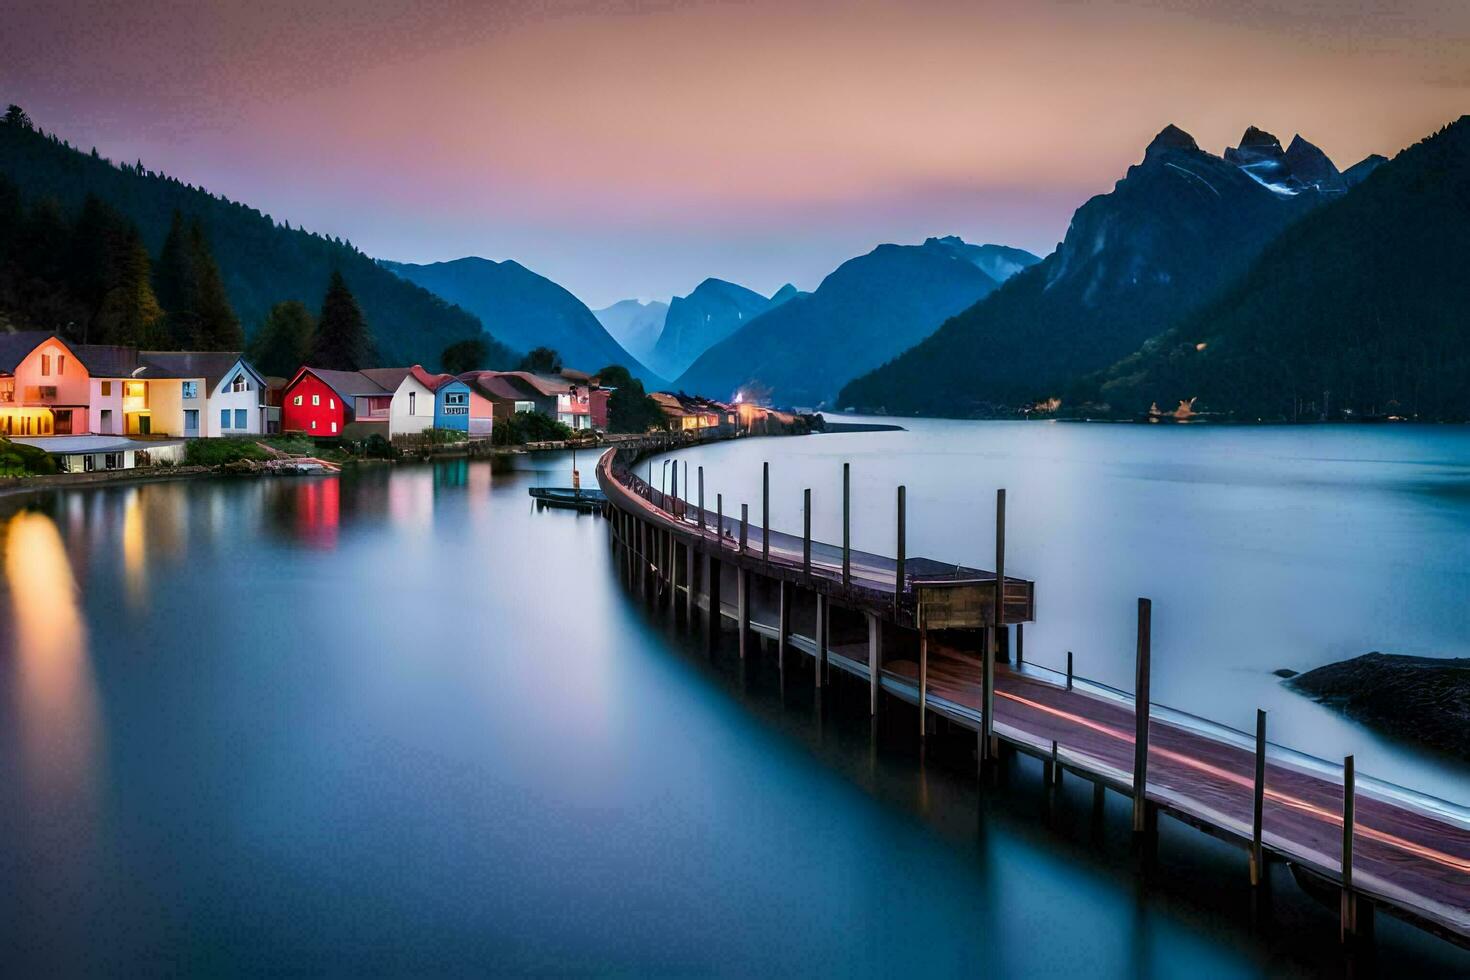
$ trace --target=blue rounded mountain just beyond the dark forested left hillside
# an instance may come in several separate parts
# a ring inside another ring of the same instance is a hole
[[[475,256],[412,264],[384,262],[404,279],[456,303],[481,319],[517,351],[550,347],[567,367],[597,370],[623,364],[644,383],[659,378],[629,354],[575,295],[519,262]]]

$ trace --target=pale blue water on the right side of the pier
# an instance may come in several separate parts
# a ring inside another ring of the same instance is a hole
[[[873,419],[872,422],[891,422]],[[679,454],[710,507],[751,507],[772,461],[772,525],[994,567],[1036,582],[1026,658],[1133,689],[1136,599],[1152,599],[1152,698],[1470,805],[1470,767],[1376,735],[1273,673],[1370,651],[1470,657],[1470,426],[1136,426],[904,420],[904,432],[745,439]],[[663,457],[654,480],[666,479]],[[681,463],[681,479],[684,475]],[[684,495],[684,494],[681,494]]]

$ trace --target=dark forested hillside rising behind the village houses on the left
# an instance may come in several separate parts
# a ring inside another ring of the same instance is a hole
[[[278,225],[253,207],[140,166],[113,166],[96,150],[82,153],[40,131],[0,125],[0,173],[26,200],[51,197],[69,212],[96,194],[138,226],[153,256],[163,247],[175,210],[198,217],[247,334],[282,300],[316,310],[335,269],[362,306],[381,363],[437,367],[445,347],[481,336],[473,316],[379,269],[348,242]],[[495,363],[510,360],[510,351],[485,339]]]

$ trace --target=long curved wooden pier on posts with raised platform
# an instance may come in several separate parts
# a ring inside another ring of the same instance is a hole
[[[811,541],[769,526],[761,513],[725,513],[694,494],[663,494],[637,473],[639,455],[610,450],[597,466],[606,514],[629,582],[650,601],[682,605],[706,636],[734,621],[739,655],[773,641],[782,670],[810,658],[819,696],[831,671],[861,679],[876,717],[885,701],[917,708],[920,739],[945,724],[975,733],[980,771],[1003,752],[1042,761],[1133,801],[1133,830],[1151,843],[1160,814],[1239,845],[1252,884],[1286,861],[1341,895],[1345,943],[1372,936],[1373,909],[1470,948],[1470,811],[1267,742],[1266,713],[1244,733],[1148,698],[1151,607],[1138,601],[1135,693],[1107,689],[1023,660],[1035,585],[1007,576],[1004,491],[997,494],[995,570],[906,554],[906,492],[894,498],[894,555]],[[1000,614],[997,614],[1000,610]],[[1011,655],[1014,654],[1014,655]],[[1138,705],[1142,705],[1142,710]]]

